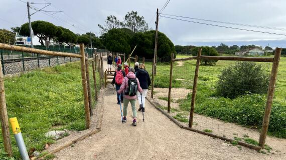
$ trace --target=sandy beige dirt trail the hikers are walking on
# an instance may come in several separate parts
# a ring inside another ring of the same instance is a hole
[[[131,113],[129,104],[127,122],[122,124],[120,106],[109,84],[101,131],[56,153],[54,159],[285,159],[285,154],[239,150],[223,140],[182,129],[148,101],[145,122],[137,112],[137,126],[132,126]]]

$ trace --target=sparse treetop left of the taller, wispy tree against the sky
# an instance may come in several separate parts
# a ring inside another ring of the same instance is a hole
[[[110,16],[107,16],[104,25],[100,25],[100,24],[97,24],[97,25],[101,29],[101,33],[103,34],[103,33],[107,32],[110,29],[119,28],[122,25],[122,22],[120,22],[116,18],[116,16],[110,15]]]

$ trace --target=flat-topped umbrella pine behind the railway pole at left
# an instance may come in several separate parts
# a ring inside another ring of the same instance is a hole
[[[46,45],[49,46],[49,43],[52,38],[61,36],[63,34],[63,30],[58,26],[50,23],[48,21],[36,20],[32,22],[32,28],[34,31],[34,35],[39,38],[39,42],[42,45],[44,41]],[[20,35],[30,36],[29,24],[25,23],[22,25],[22,29],[20,30]]]

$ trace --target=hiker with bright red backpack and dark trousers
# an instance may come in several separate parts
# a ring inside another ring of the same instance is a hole
[[[122,70],[122,65],[118,64],[117,70],[114,72],[113,80],[111,82],[113,86],[115,84],[116,91],[119,90],[124,77],[125,77],[125,72],[124,70]],[[123,94],[117,93],[117,104],[120,104],[119,96],[120,96],[121,102],[123,102]]]

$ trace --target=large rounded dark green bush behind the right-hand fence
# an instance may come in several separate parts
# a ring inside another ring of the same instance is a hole
[[[218,95],[235,98],[249,93],[266,93],[269,75],[265,70],[261,64],[246,61],[224,68],[218,77]]]

